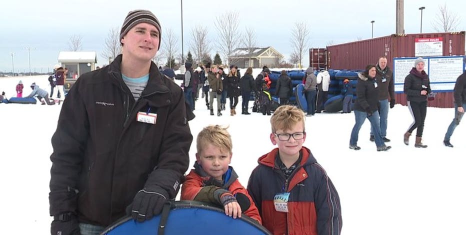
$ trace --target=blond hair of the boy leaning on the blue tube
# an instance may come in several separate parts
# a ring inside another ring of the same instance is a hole
[[[228,126],[222,127],[220,125],[208,125],[204,127],[197,134],[197,153],[200,153],[207,143],[210,143],[220,149],[228,150],[231,153],[233,143],[231,141],[231,135],[228,130],[226,130],[227,128]]]

